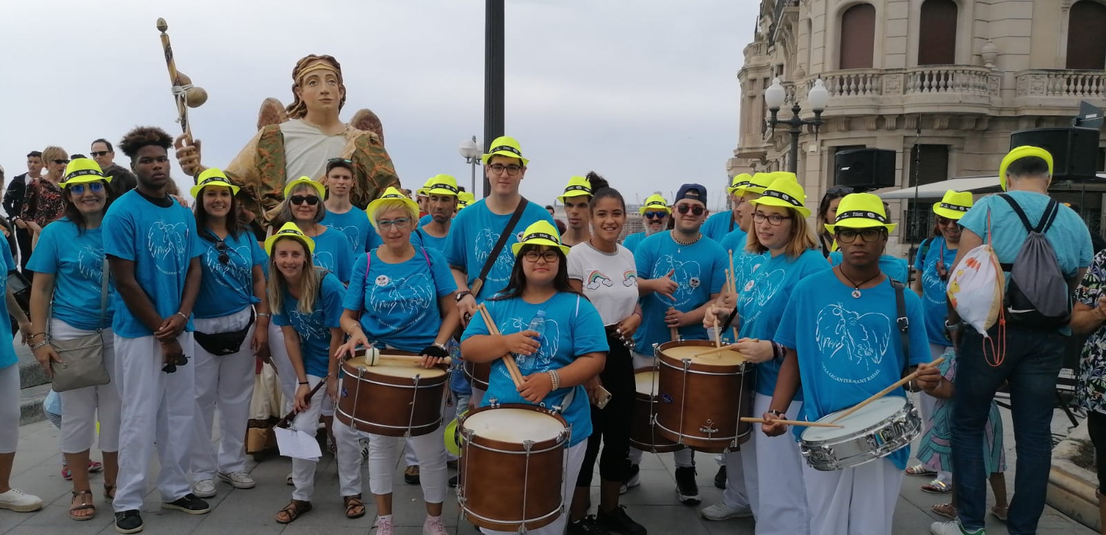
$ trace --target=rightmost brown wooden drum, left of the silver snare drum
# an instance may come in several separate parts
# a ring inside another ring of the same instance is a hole
[[[657,430],[661,437],[710,453],[735,451],[752,426],[753,368],[740,353],[714,348],[708,340],[668,342],[657,347]],[[748,379],[748,380],[747,380]]]

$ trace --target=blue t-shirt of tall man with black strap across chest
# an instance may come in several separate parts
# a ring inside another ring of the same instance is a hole
[[[449,225],[449,235],[446,237],[446,260],[449,265],[463,270],[466,282],[471,287],[472,281],[480,275],[484,261],[491,253],[495,242],[511,221],[511,213],[497,216],[488,209],[484,199],[480,199],[470,204],[465,210],[457,212],[453,223]],[[507,287],[507,281],[511,277],[511,269],[514,268],[514,254],[511,253],[511,245],[519,242],[522,232],[538,221],[547,221],[553,228],[556,223],[550,212],[539,204],[526,202],[526,208],[522,211],[518,224],[514,225],[512,235],[508,237],[507,243],[499,252],[499,256],[488,272],[488,277],[480,289],[480,295],[476,296],[477,302],[495,295]]]

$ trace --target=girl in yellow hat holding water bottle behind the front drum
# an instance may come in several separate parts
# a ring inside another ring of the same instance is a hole
[[[486,304],[501,333],[492,336],[477,314],[461,336],[461,353],[476,363],[492,363],[482,406],[532,403],[561,407],[572,426],[565,453],[562,499],[570,496],[592,434],[592,416],[583,385],[603,370],[608,349],[603,321],[586,297],[568,285],[565,254],[556,229],[547,221],[531,224],[511,245],[514,268],[507,287]],[[529,328],[531,325],[536,329]],[[513,354],[522,374],[515,388],[502,355]],[[564,533],[562,514],[535,535]],[[505,533],[482,529],[486,534]]]

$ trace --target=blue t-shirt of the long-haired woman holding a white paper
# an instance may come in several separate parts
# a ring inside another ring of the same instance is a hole
[[[300,312],[300,301],[284,291],[284,302],[279,311],[273,311],[273,324],[289,325],[300,334],[300,357],[307,375],[326,377],[331,354],[331,329],[341,328],[342,300],[345,286],[334,273],[327,273],[320,284],[315,308],[311,314]]]

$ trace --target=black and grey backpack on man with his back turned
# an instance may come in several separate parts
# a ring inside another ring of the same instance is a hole
[[[1071,323],[1072,292],[1060,268],[1060,260],[1044,233],[1060,212],[1060,202],[1051,199],[1036,227],[1030,224],[1025,211],[1012,197],[1000,193],[1022,220],[1029,235],[1013,264],[1003,264],[1010,272],[1003,307],[1006,322],[1021,327],[1052,331]]]

